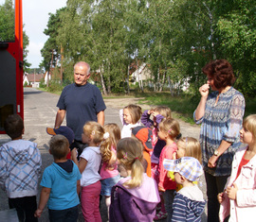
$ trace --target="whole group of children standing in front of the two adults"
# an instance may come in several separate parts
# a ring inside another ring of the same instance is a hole
[[[129,105],[119,114],[121,130],[117,124],[85,123],[82,143],[88,146],[81,155],[75,148],[70,152],[70,128],[47,128],[54,135],[49,142],[54,162],[44,171],[38,207],[40,152],[36,144],[22,140],[19,115],[6,119],[11,141],[0,148],[0,185],[20,221],[37,221],[46,204],[50,221],[77,221],[80,201],[85,221],[101,221],[100,196],[110,222],[201,220],[206,201],[197,186],[203,174],[199,142],[181,137],[168,107],[142,113]],[[239,221],[256,208],[256,114],[245,119],[240,135],[247,147],[235,154],[227,188],[218,196],[221,221],[229,214]]]

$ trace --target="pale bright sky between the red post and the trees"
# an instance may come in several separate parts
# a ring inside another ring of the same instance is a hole
[[[29,38],[27,61],[31,68],[39,67],[43,60],[40,50],[46,43],[43,33],[49,19],[48,13],[56,13],[56,9],[65,7],[65,0],[23,0],[23,24]]]

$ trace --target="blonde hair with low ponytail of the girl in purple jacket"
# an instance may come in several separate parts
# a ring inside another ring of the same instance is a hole
[[[131,170],[131,178],[124,182],[123,185],[128,188],[135,188],[142,184],[144,167],[143,161],[143,146],[136,138],[123,138],[117,146],[117,157],[120,164],[126,170]]]

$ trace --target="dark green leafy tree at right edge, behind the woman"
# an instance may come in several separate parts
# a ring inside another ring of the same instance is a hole
[[[229,1],[230,2],[230,1]],[[220,49],[238,77],[236,85],[246,95],[256,94],[256,4],[253,0],[234,0],[229,11],[217,24],[221,37]],[[220,8],[223,5],[220,5]]]

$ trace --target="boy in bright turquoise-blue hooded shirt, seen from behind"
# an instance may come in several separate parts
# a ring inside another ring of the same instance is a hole
[[[48,205],[50,221],[77,221],[80,179],[78,166],[66,160],[70,151],[69,143],[63,135],[53,136],[49,142],[49,153],[54,162],[46,167],[40,185],[43,186],[39,206],[35,212],[40,217]]]

